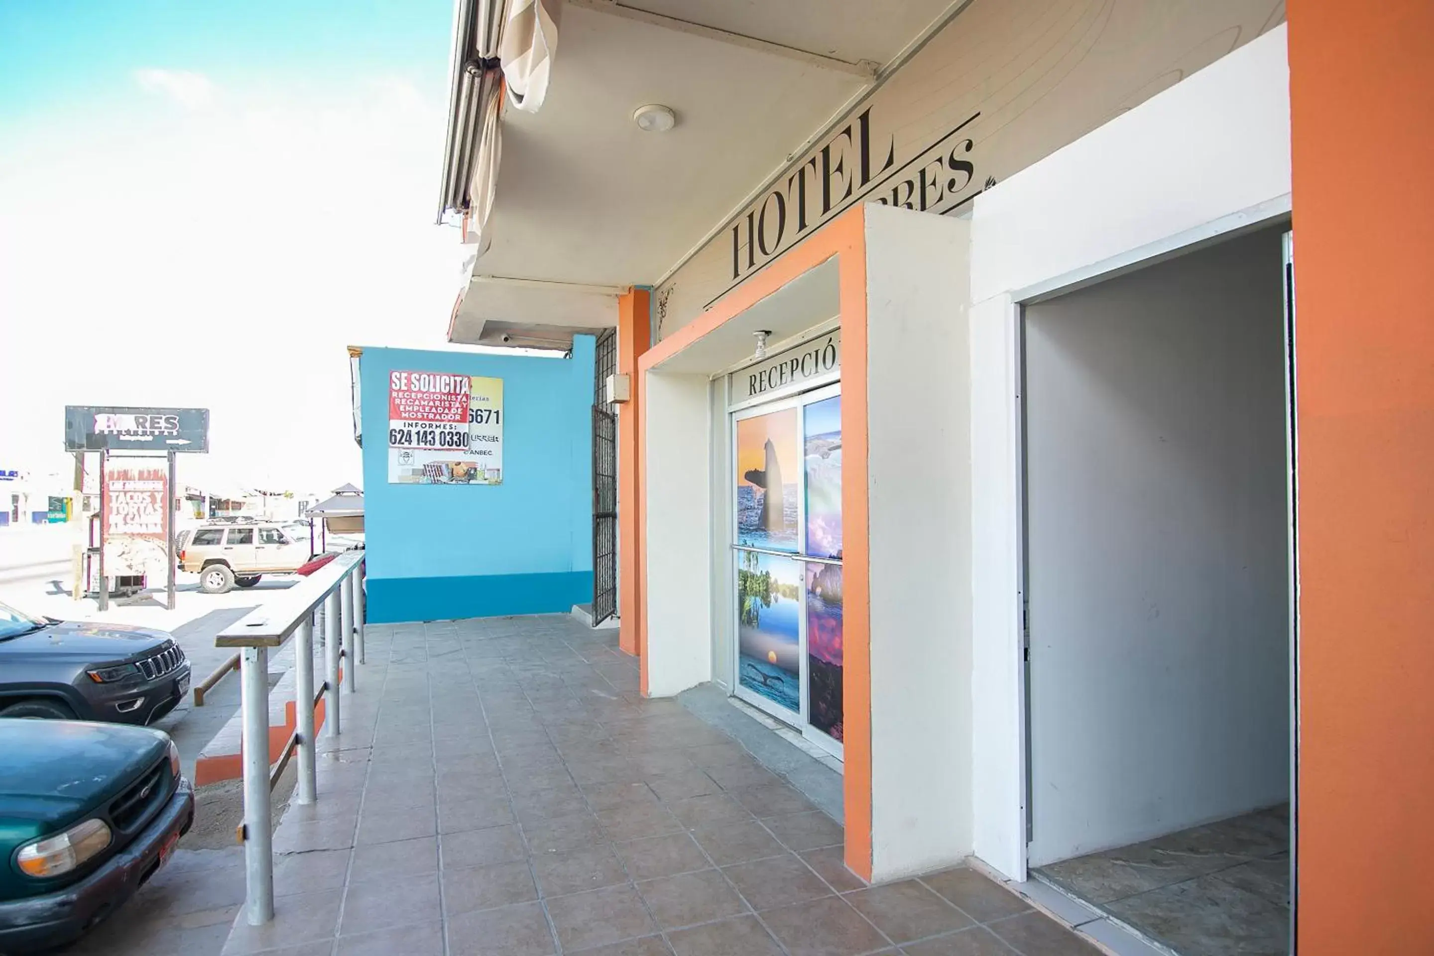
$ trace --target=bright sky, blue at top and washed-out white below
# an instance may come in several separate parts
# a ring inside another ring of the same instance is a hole
[[[181,482],[361,483],[344,347],[443,347],[450,0],[0,3],[0,467],[201,406]]]

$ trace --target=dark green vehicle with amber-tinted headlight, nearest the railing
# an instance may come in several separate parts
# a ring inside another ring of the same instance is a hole
[[[0,718],[0,953],[62,946],[165,864],[194,788],[161,731]]]

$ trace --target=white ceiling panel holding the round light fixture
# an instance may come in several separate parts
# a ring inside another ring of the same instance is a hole
[[[538,113],[506,109],[479,274],[651,282],[858,89],[855,76],[568,6]],[[644,133],[663,103],[677,128]]]

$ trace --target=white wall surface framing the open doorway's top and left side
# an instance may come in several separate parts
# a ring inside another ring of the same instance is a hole
[[[1015,302],[1289,211],[1285,27],[982,193],[971,225],[974,847],[1025,877]]]

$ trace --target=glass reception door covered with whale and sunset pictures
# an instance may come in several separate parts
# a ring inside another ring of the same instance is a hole
[[[842,752],[840,386],[733,416],[736,694]]]

